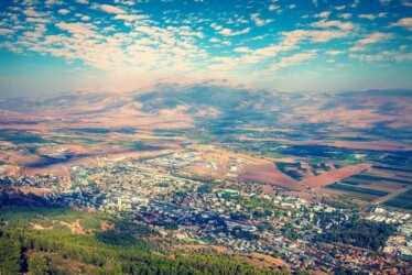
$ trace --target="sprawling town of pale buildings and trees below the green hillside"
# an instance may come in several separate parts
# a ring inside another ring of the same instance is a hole
[[[381,207],[358,209],[325,199],[304,199],[275,186],[267,193],[260,183],[204,180],[187,170],[180,173],[178,164],[191,167],[198,162],[192,153],[147,160],[98,157],[93,165],[73,165],[65,177],[15,176],[2,169],[0,182],[43,190],[42,196],[52,204],[135,220],[182,245],[257,252],[281,258],[295,271],[330,273],[341,267],[410,274],[410,213]],[[326,241],[329,233],[357,219],[397,230],[376,250]]]

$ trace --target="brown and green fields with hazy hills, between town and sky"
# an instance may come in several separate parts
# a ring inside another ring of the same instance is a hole
[[[170,88],[173,99],[160,91],[121,99],[67,95],[76,100],[61,108],[63,95],[40,103],[42,112],[36,111],[37,103],[15,100],[2,108],[21,107],[32,116],[15,112],[13,121],[21,123],[8,120],[0,125],[1,140],[10,146],[0,161],[15,164],[14,169],[22,166],[22,173],[50,169],[63,175],[69,165],[96,163],[100,156],[140,160],[172,154],[154,164],[228,185],[269,184],[302,196],[350,195],[364,201],[362,196],[373,201],[411,183],[409,131],[380,123],[381,105],[389,100],[403,109],[395,116],[384,113],[384,119],[409,125],[406,116],[399,119],[409,110],[404,102],[410,97],[403,94],[389,99],[381,94],[226,95],[219,92],[226,88],[203,87],[210,92],[204,97],[198,87]],[[373,103],[364,106],[371,96]],[[359,108],[343,103],[348,98]],[[83,112],[85,102],[89,112]],[[55,120],[47,119],[52,114]]]

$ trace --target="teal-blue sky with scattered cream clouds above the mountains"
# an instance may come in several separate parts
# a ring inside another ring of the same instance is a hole
[[[0,97],[228,79],[412,88],[412,0],[2,0]]]

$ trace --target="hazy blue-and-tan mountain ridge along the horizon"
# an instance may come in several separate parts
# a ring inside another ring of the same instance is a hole
[[[68,116],[256,117],[310,123],[350,122],[353,118],[359,118],[365,123],[384,122],[399,128],[412,125],[408,116],[412,113],[411,95],[409,90],[319,94],[251,90],[225,85],[160,84],[148,91],[77,91],[43,98],[4,99],[0,101],[0,110],[33,116],[54,111]]]

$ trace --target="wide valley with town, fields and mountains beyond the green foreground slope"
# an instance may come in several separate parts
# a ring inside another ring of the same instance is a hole
[[[215,245],[250,265],[261,253],[267,268],[293,273],[375,272],[384,260],[380,271],[406,274],[411,107],[409,91],[203,84],[11,98],[0,101],[0,183],[9,197],[34,196],[23,205],[44,200],[149,227],[172,254],[174,245],[200,245],[219,255]],[[384,218],[373,221],[372,213]],[[365,244],[332,238],[359,222],[383,232],[379,241],[359,228],[356,238],[370,239]],[[53,224],[29,228],[54,232]],[[87,232],[59,224],[75,235]],[[387,249],[394,235],[406,241]],[[358,264],[332,258],[333,250]],[[90,273],[99,268],[69,257]]]

